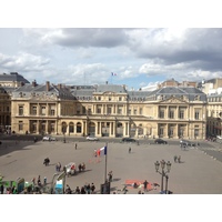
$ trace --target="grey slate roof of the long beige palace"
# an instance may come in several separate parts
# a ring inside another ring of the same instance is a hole
[[[47,91],[46,84],[24,84],[13,91],[13,97],[20,97],[20,93],[23,93],[24,97],[30,97],[32,93],[42,93],[56,94],[61,99],[70,100],[91,100],[93,93],[104,92],[115,92],[115,93],[125,93],[129,101],[155,101],[159,100],[161,95],[164,97],[164,100],[173,97],[180,98],[184,97],[189,101],[203,101],[206,102],[206,94],[201,90],[193,87],[164,87],[153,91],[128,91],[124,85],[119,84],[101,84],[101,85],[72,85],[72,87],[62,87],[59,89],[57,85],[50,84],[50,90]]]

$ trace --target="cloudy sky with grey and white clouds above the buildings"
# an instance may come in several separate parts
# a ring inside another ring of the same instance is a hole
[[[28,21],[27,16],[23,20]],[[27,28],[0,28],[0,73],[18,72],[30,82],[39,83],[49,80],[51,83],[100,84],[108,81],[135,90],[149,89],[172,78],[201,81],[222,77],[221,28],[185,29],[185,26],[174,24],[172,28],[119,28],[117,23],[110,28],[107,24],[82,28],[85,23],[77,28],[57,28],[56,23],[52,22],[53,28],[32,28],[34,22],[26,23]],[[19,27],[22,26],[19,23]],[[47,23],[47,27],[50,26]],[[117,75],[112,77],[111,72]]]

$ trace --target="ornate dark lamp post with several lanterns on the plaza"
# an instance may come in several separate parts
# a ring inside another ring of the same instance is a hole
[[[161,193],[163,192],[163,178],[165,178],[165,194],[168,193],[168,180],[169,175],[167,173],[170,173],[171,170],[171,162],[165,162],[164,160],[161,160],[160,162],[157,161],[155,163],[155,172],[161,174]],[[161,172],[159,171],[161,167]],[[167,167],[167,170],[165,170]]]

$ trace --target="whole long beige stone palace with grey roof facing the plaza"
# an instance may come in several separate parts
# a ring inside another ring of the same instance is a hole
[[[154,91],[120,84],[24,84],[11,94],[17,133],[203,139],[206,94],[192,84]]]

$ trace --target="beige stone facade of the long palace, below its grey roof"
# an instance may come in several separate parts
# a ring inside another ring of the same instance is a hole
[[[101,95],[100,95],[101,97]],[[206,108],[200,101],[189,103],[172,98],[165,101],[129,102],[119,101],[119,97],[109,100],[91,101],[32,101],[12,100],[12,130],[18,133],[51,133],[95,137],[132,137],[132,138],[183,138],[202,139],[205,134]],[[32,115],[33,104],[46,105],[47,114],[37,111]],[[49,115],[50,105],[54,105],[54,115]],[[23,105],[23,115],[19,114],[19,107]],[[160,110],[164,110],[164,118]],[[180,118],[180,109],[184,110],[184,118]],[[131,110],[131,112],[129,112]],[[173,110],[174,117],[170,118]],[[195,119],[195,111],[199,119]],[[21,130],[21,122],[23,128]]]

